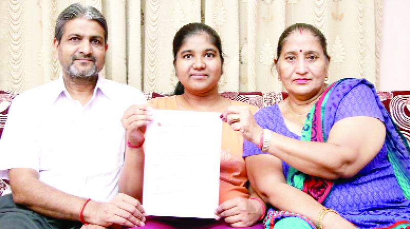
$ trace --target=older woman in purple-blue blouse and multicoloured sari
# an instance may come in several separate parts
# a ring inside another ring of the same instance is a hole
[[[326,39],[295,24],[279,38],[275,63],[289,97],[223,117],[244,139],[248,176],[272,205],[266,228],[407,228],[409,148],[365,80],[325,84]],[[231,123],[231,122],[229,122]]]

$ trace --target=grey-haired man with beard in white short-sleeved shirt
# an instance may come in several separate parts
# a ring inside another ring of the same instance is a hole
[[[0,141],[0,178],[12,190],[0,198],[1,228],[144,225],[138,200],[117,193],[120,119],[145,97],[98,76],[106,41],[95,8],[73,4],[58,16],[53,45],[63,75],[15,98]]]

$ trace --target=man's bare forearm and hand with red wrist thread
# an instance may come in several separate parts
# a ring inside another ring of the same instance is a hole
[[[29,168],[9,170],[13,201],[45,216],[79,221],[84,198],[61,192],[39,180],[37,171]],[[107,203],[89,201],[83,212],[88,223],[102,226],[120,224],[144,225],[145,215],[138,200],[118,194]]]

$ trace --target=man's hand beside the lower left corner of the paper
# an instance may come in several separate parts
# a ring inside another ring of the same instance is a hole
[[[84,210],[85,221],[92,224],[105,227],[114,224],[128,227],[145,225],[146,215],[141,203],[137,199],[122,193],[119,193],[110,202],[97,203],[96,209],[92,206],[87,207],[88,204]],[[95,212],[92,212],[93,210]]]

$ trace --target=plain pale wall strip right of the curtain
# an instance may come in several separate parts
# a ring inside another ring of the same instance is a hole
[[[383,7],[380,89],[410,90],[410,1],[388,0]]]

